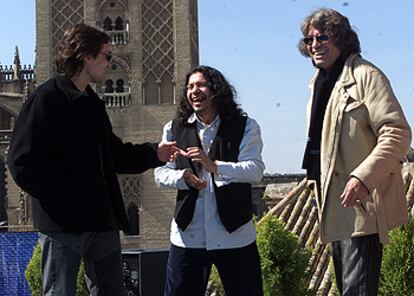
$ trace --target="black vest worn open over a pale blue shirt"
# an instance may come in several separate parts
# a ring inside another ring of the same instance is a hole
[[[237,162],[240,142],[244,135],[247,116],[235,116],[222,120],[216,137],[214,138],[209,156],[212,160]],[[196,122],[193,124],[173,121],[172,133],[177,146],[181,149],[187,147],[200,147],[201,142],[197,134]],[[193,164],[188,158],[179,156],[176,159],[178,169],[191,168],[195,174],[200,172],[200,167]],[[252,194],[249,183],[230,183],[217,187],[214,183],[217,209],[220,220],[228,232],[233,232],[246,224],[252,218]],[[178,227],[185,230],[193,219],[198,190],[190,187],[189,190],[178,190],[177,204],[174,218]]]

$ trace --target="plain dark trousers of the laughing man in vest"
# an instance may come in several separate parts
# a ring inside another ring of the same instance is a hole
[[[242,248],[212,251],[172,245],[164,296],[204,296],[212,264],[227,296],[263,295],[259,252],[253,242]]]

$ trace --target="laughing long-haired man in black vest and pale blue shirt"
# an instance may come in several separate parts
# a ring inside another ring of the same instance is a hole
[[[196,67],[164,126],[163,141],[182,150],[155,170],[157,184],[178,190],[165,296],[204,295],[212,264],[226,295],[263,294],[250,185],[263,176],[263,144],[235,96],[218,70]]]

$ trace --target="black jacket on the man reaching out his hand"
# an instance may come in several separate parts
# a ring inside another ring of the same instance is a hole
[[[141,173],[162,165],[156,144],[122,143],[112,132],[105,104],[87,87],[81,93],[57,75],[24,103],[7,164],[32,198],[41,231],[128,231],[116,173]]]

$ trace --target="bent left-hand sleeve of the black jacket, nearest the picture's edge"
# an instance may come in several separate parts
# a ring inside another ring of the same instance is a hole
[[[54,157],[53,112],[45,99],[31,96],[16,121],[7,165],[16,184],[50,204],[67,204],[78,174]]]

